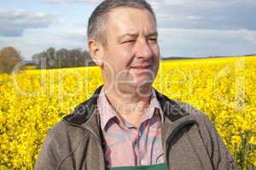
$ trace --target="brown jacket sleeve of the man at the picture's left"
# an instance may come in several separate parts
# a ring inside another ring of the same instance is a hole
[[[55,140],[53,129],[49,131],[42,144],[35,170],[57,169],[59,156],[55,152]]]

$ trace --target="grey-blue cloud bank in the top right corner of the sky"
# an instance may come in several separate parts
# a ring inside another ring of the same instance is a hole
[[[156,4],[160,27],[256,30],[253,0],[159,0]]]

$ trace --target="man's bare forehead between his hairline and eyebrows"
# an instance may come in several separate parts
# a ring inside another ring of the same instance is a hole
[[[108,14],[108,31],[121,33],[155,32],[154,17],[147,9],[119,7]]]

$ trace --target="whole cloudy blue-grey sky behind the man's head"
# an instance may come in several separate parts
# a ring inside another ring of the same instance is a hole
[[[1,0],[0,48],[30,59],[54,48],[86,46],[87,20],[101,1]],[[255,0],[149,0],[162,57],[256,53]]]

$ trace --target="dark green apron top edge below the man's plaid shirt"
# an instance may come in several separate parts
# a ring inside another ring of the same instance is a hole
[[[108,170],[166,170],[166,163],[138,167],[108,167]]]

